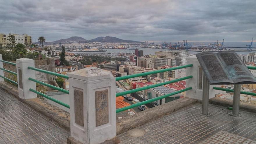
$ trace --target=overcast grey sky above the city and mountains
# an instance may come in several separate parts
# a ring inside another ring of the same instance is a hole
[[[255,8],[255,0],[0,0],[0,33],[27,33],[33,42],[249,42],[256,38]]]

